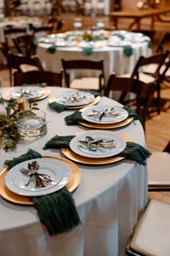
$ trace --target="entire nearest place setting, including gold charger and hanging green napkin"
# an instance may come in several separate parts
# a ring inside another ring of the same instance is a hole
[[[79,226],[81,221],[71,194],[81,180],[75,163],[30,149],[17,158],[6,160],[4,166],[0,174],[1,197],[34,206],[50,236]]]

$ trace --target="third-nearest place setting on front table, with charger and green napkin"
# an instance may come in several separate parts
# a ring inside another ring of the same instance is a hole
[[[124,127],[132,121],[139,120],[140,116],[127,106],[89,106],[75,111],[65,117],[67,125],[81,124],[84,127],[95,129],[114,129]]]

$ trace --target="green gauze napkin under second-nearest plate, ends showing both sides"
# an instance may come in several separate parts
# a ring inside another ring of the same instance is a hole
[[[69,142],[75,136],[58,136],[55,135],[51,140],[45,143],[43,150],[48,148],[69,148]],[[135,142],[126,142],[126,148],[117,156],[125,157],[127,159],[137,161],[139,164],[146,166],[146,160],[151,156],[151,153],[143,148],[143,146]]]

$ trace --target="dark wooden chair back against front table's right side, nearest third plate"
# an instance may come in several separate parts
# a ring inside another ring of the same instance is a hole
[[[146,117],[148,116],[155,90],[156,85],[154,83],[147,85],[145,82],[133,77],[115,77],[115,74],[111,74],[104,95],[115,99],[116,91],[135,94],[135,111],[143,119],[143,128],[145,130]],[[119,102],[123,103],[121,97]]]

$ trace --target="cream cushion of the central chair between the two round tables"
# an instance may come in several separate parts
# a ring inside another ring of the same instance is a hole
[[[82,77],[80,79],[74,79],[70,83],[70,88],[99,90],[99,78],[97,78],[97,77]]]

